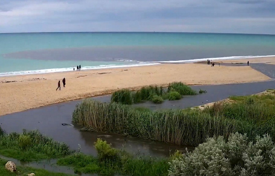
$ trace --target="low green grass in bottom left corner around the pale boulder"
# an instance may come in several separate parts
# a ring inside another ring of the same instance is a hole
[[[6,163],[7,163],[6,160],[3,160],[2,158],[0,158],[0,176],[18,176],[18,175],[26,176],[27,174],[30,174],[30,173],[35,173],[35,175],[37,176],[72,176],[70,174],[49,172],[44,169],[35,169],[27,166],[16,166],[17,172],[11,173],[5,169]]]

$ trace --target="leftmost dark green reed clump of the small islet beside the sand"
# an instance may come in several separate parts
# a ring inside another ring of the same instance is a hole
[[[128,89],[122,89],[112,93],[111,102],[132,104],[133,101],[131,91]]]

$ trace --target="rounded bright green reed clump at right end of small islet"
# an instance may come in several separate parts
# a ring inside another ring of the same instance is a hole
[[[178,92],[181,95],[196,95],[196,91],[192,90],[191,87],[186,86],[184,83],[182,82],[173,82],[170,83],[168,86],[168,92]]]

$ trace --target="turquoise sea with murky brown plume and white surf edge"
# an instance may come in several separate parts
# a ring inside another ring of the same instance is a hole
[[[275,35],[163,32],[0,33],[0,76],[275,55]]]

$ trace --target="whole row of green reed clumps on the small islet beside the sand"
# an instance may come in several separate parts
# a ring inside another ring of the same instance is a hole
[[[172,95],[171,95],[172,94]],[[137,92],[128,89],[118,90],[112,93],[111,102],[121,104],[141,103],[142,101],[152,101],[162,103],[163,100],[179,100],[184,95],[196,95],[196,91],[182,82],[170,83],[167,91],[162,86],[145,86]],[[176,96],[173,96],[176,95]]]

